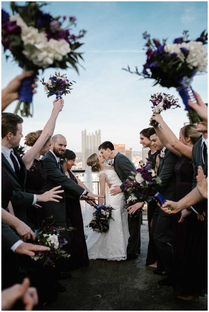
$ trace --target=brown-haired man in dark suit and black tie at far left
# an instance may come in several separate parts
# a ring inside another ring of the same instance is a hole
[[[2,113],[2,164],[13,182],[11,197],[15,216],[35,230],[35,222],[29,209],[36,204],[36,195],[24,192],[27,170],[18,154],[23,119],[12,113]]]

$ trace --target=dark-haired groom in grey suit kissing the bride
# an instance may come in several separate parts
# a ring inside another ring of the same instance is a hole
[[[112,151],[114,150],[114,145],[111,142],[109,141],[103,142],[102,144],[100,144],[98,149],[100,153],[103,155],[103,158],[105,158],[105,160],[108,160],[109,158],[113,159]],[[130,161],[130,159],[121,153],[118,153],[114,158],[114,169],[123,183],[121,185],[114,186],[114,189],[112,189],[110,192],[112,196],[124,192],[125,190],[124,184],[126,182],[126,179],[129,177],[129,175],[131,175],[131,171],[136,170],[134,164]],[[130,217],[130,215],[128,215],[128,226],[130,237],[127,246],[127,260],[136,259],[138,258],[138,254],[140,254],[141,219],[142,219],[141,214],[139,214],[137,217]]]

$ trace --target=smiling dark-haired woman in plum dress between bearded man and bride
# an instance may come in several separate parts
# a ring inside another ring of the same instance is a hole
[[[76,155],[73,151],[70,151],[69,149],[65,150],[65,153],[62,156],[62,159],[64,160],[63,168],[65,170],[65,174],[75,183],[85,188],[86,190],[90,191],[71,171],[72,166],[75,165],[75,158]],[[73,239],[70,245],[72,251],[70,252],[71,254],[70,258],[68,259],[70,270],[73,270],[81,266],[88,266],[89,257],[85,241],[84,224],[80,207],[80,201],[75,200],[72,196],[70,196],[70,194],[67,194],[66,200],[68,201],[69,204],[67,206],[69,206],[68,212],[72,227],[76,228],[76,230],[73,231]],[[90,201],[87,202],[91,204]]]

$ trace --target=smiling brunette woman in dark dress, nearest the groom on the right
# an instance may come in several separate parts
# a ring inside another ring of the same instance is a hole
[[[158,154],[160,151],[156,151],[152,145],[152,142],[149,139],[148,136],[148,130],[151,129],[151,127],[143,129],[140,132],[140,144],[143,145],[143,147],[148,147],[148,158],[152,157],[154,160],[156,160]],[[157,207],[157,202],[155,200],[152,200],[147,204],[147,219],[148,219],[148,231],[149,231],[149,243],[148,243],[148,249],[147,249],[147,259],[146,259],[146,266],[151,266],[153,268],[157,268],[157,248],[155,247],[154,241],[152,236],[150,235],[151,226],[152,226],[152,218],[153,213],[155,212],[155,209]],[[160,268],[160,262],[158,260],[158,268]]]

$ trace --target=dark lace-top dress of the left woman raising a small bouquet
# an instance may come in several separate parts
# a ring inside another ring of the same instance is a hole
[[[27,170],[25,191],[32,194],[43,194],[43,186],[47,175],[44,169],[43,160],[34,159],[32,166]],[[36,229],[41,227],[43,220],[46,220],[46,208],[44,202],[37,202],[42,208],[31,207],[30,213],[34,218]]]

